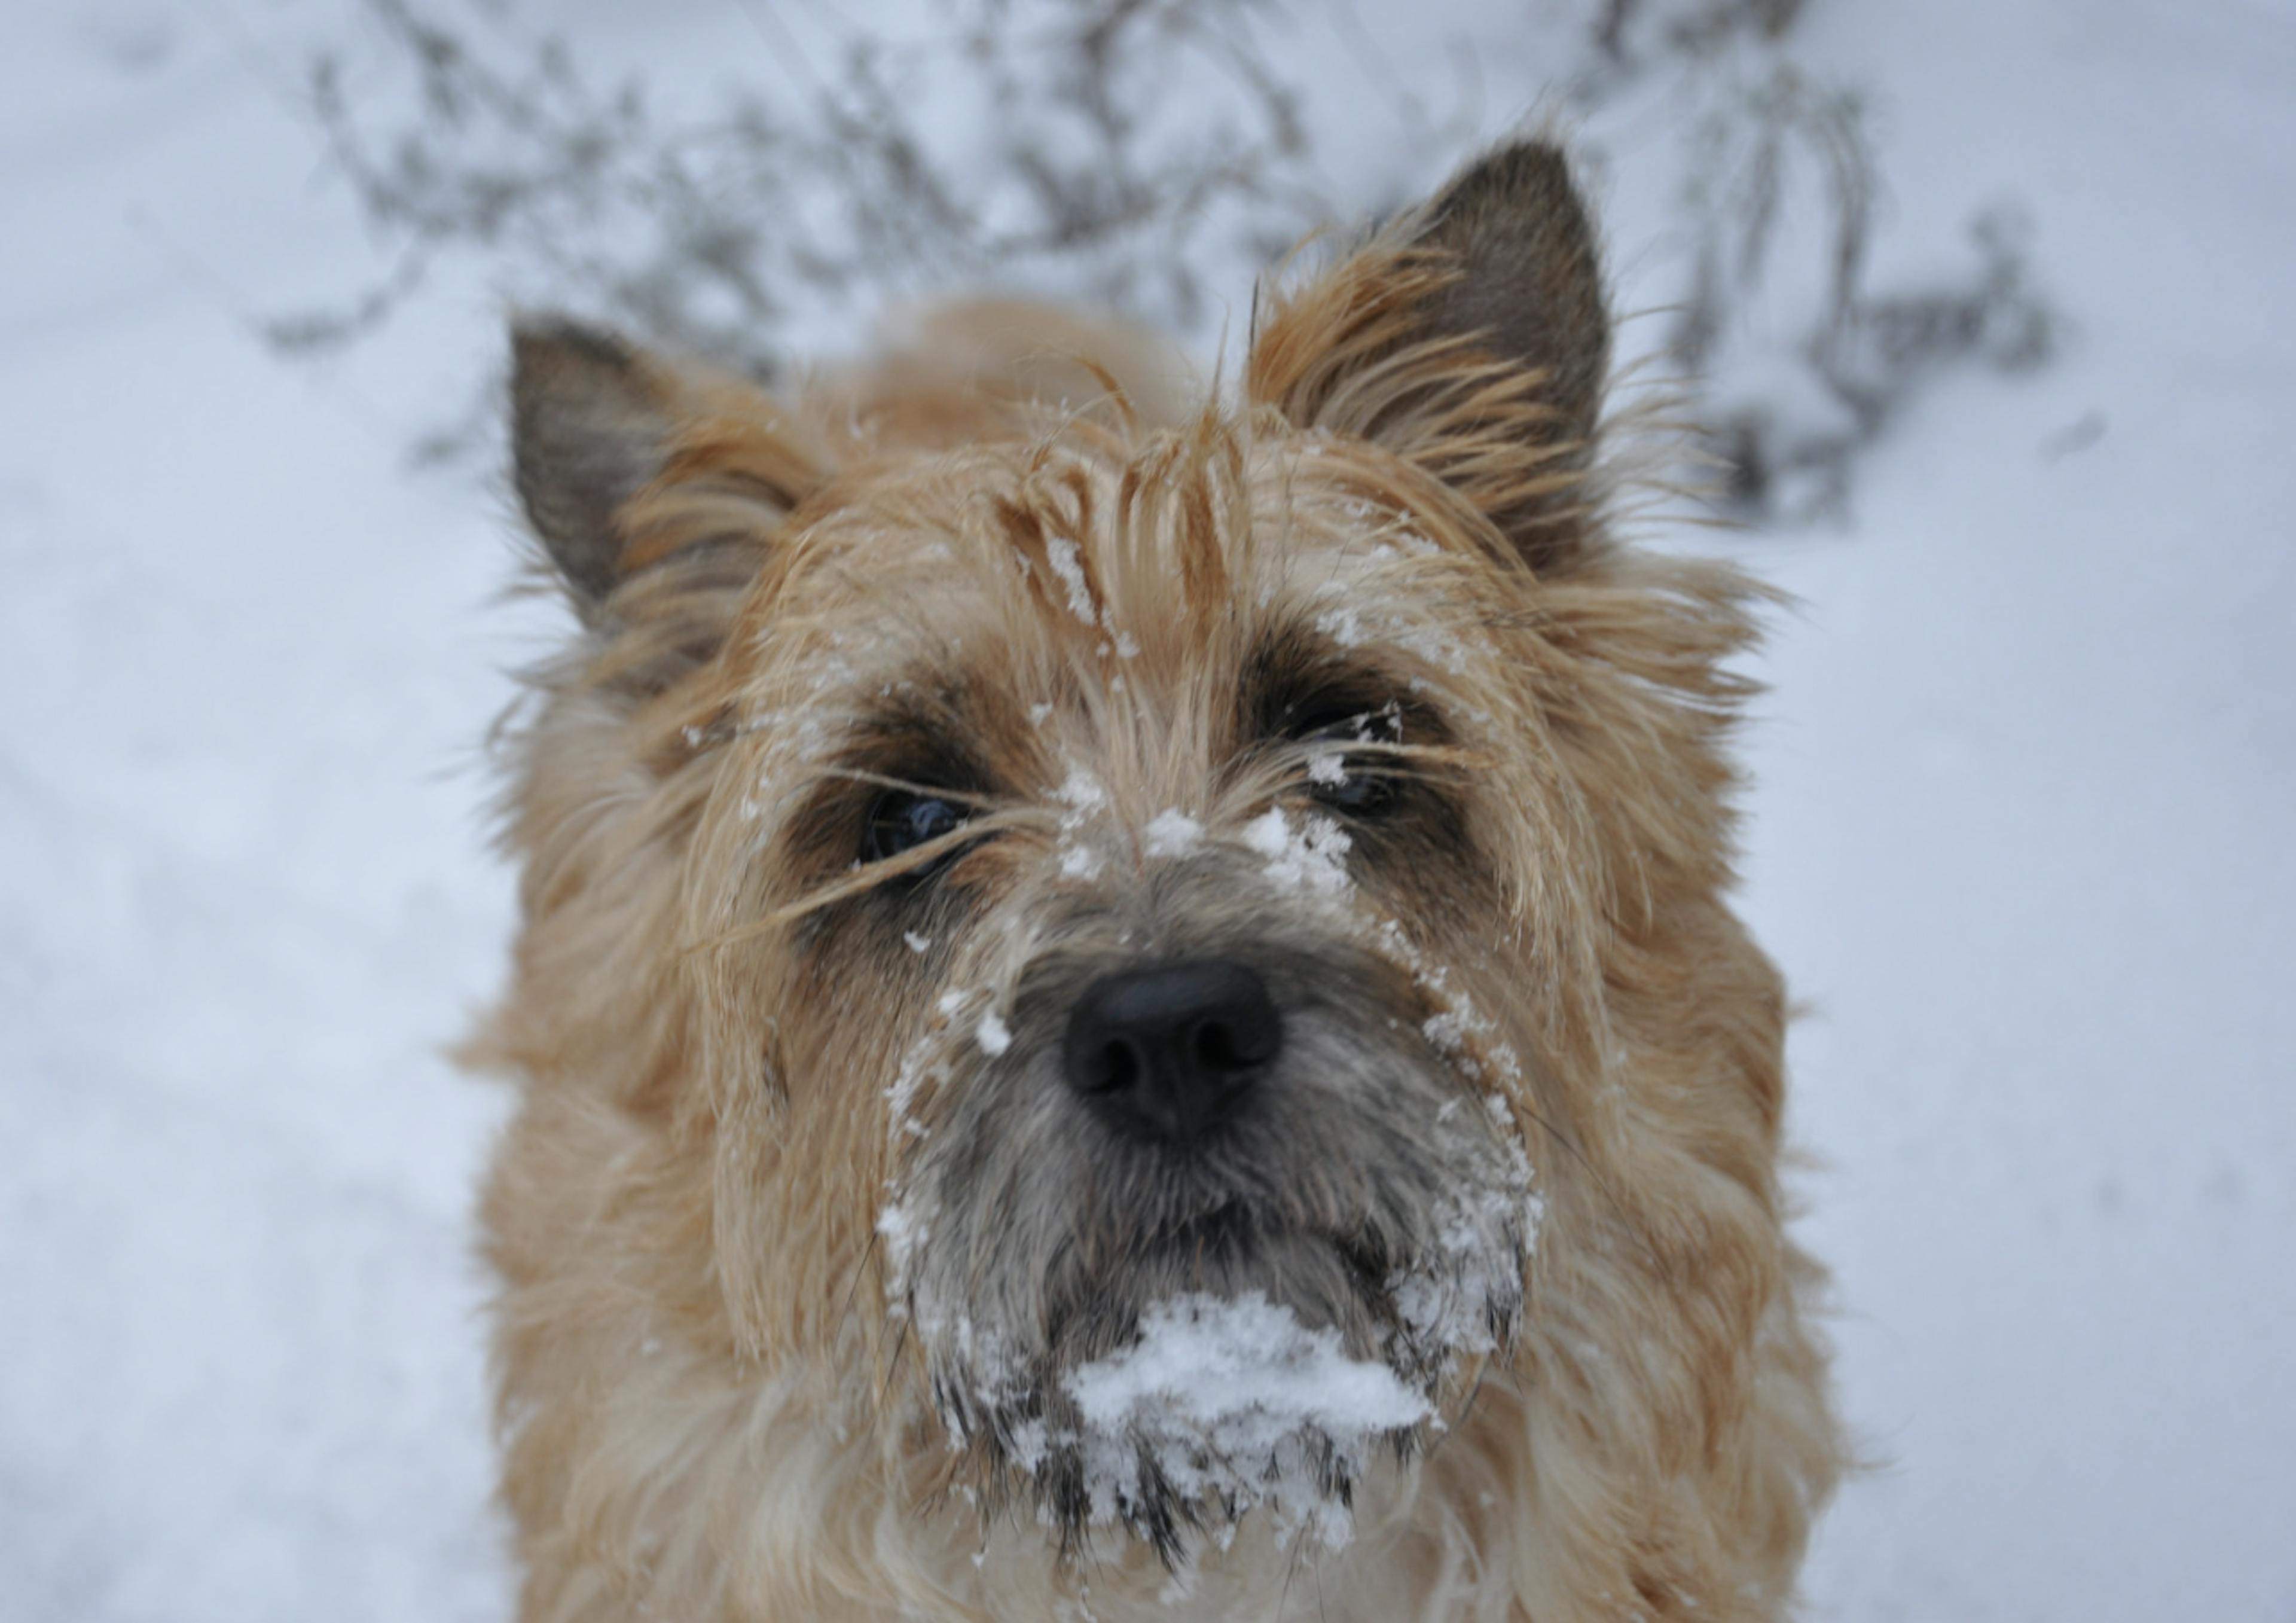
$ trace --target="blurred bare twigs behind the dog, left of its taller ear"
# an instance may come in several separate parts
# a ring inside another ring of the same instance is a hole
[[[1297,92],[1249,28],[1272,0],[948,9],[957,28],[944,39],[852,34],[810,94],[742,94],[668,126],[641,85],[588,83],[563,41],[533,41],[530,62],[505,69],[521,48],[505,30],[487,39],[413,0],[365,0],[411,103],[395,122],[356,106],[328,53],[310,67],[310,108],[395,259],[360,294],[269,335],[287,351],[365,337],[450,253],[760,372],[794,289],[877,301],[1026,280],[1047,262],[1079,296],[1185,331],[1203,312],[1205,239],[1247,230],[1258,248],[1272,225],[1300,234],[1332,213]],[[1201,69],[1233,92],[1221,115],[1157,112],[1157,92]],[[914,94],[951,80],[994,108],[994,135],[962,168],[939,156]]]

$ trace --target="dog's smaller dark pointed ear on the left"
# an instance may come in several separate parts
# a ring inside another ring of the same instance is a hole
[[[512,480],[585,620],[622,583],[622,507],[661,473],[673,429],[661,363],[563,317],[510,328]]]

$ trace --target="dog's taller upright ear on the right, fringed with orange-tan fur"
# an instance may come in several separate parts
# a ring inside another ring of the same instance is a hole
[[[1531,140],[1283,298],[1254,340],[1249,393],[1421,464],[1550,574],[1593,546],[1607,372],[1593,225],[1564,152]]]

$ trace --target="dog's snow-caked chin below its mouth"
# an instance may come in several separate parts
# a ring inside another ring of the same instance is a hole
[[[1492,1279],[1520,1265],[1515,1249]],[[1118,1267],[1047,1281],[1033,1350],[964,1320],[934,1396],[971,1497],[1033,1508],[1063,1554],[1130,1536],[1180,1566],[1254,1508],[1279,1538],[1339,1545],[1366,1469],[1407,1465],[1513,1334],[1520,1290],[1449,1272],[1458,1334],[1435,1345],[1412,1320],[1428,1269],[1212,1207]]]

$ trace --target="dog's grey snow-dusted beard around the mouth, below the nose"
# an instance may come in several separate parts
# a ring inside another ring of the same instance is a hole
[[[987,1513],[1169,1563],[1254,1506],[1336,1545],[1511,1338],[1538,1201],[1504,1106],[1384,1019],[1295,1033],[1270,1109],[1187,1155],[1086,1132],[1026,1054],[962,1084],[884,1230]]]

